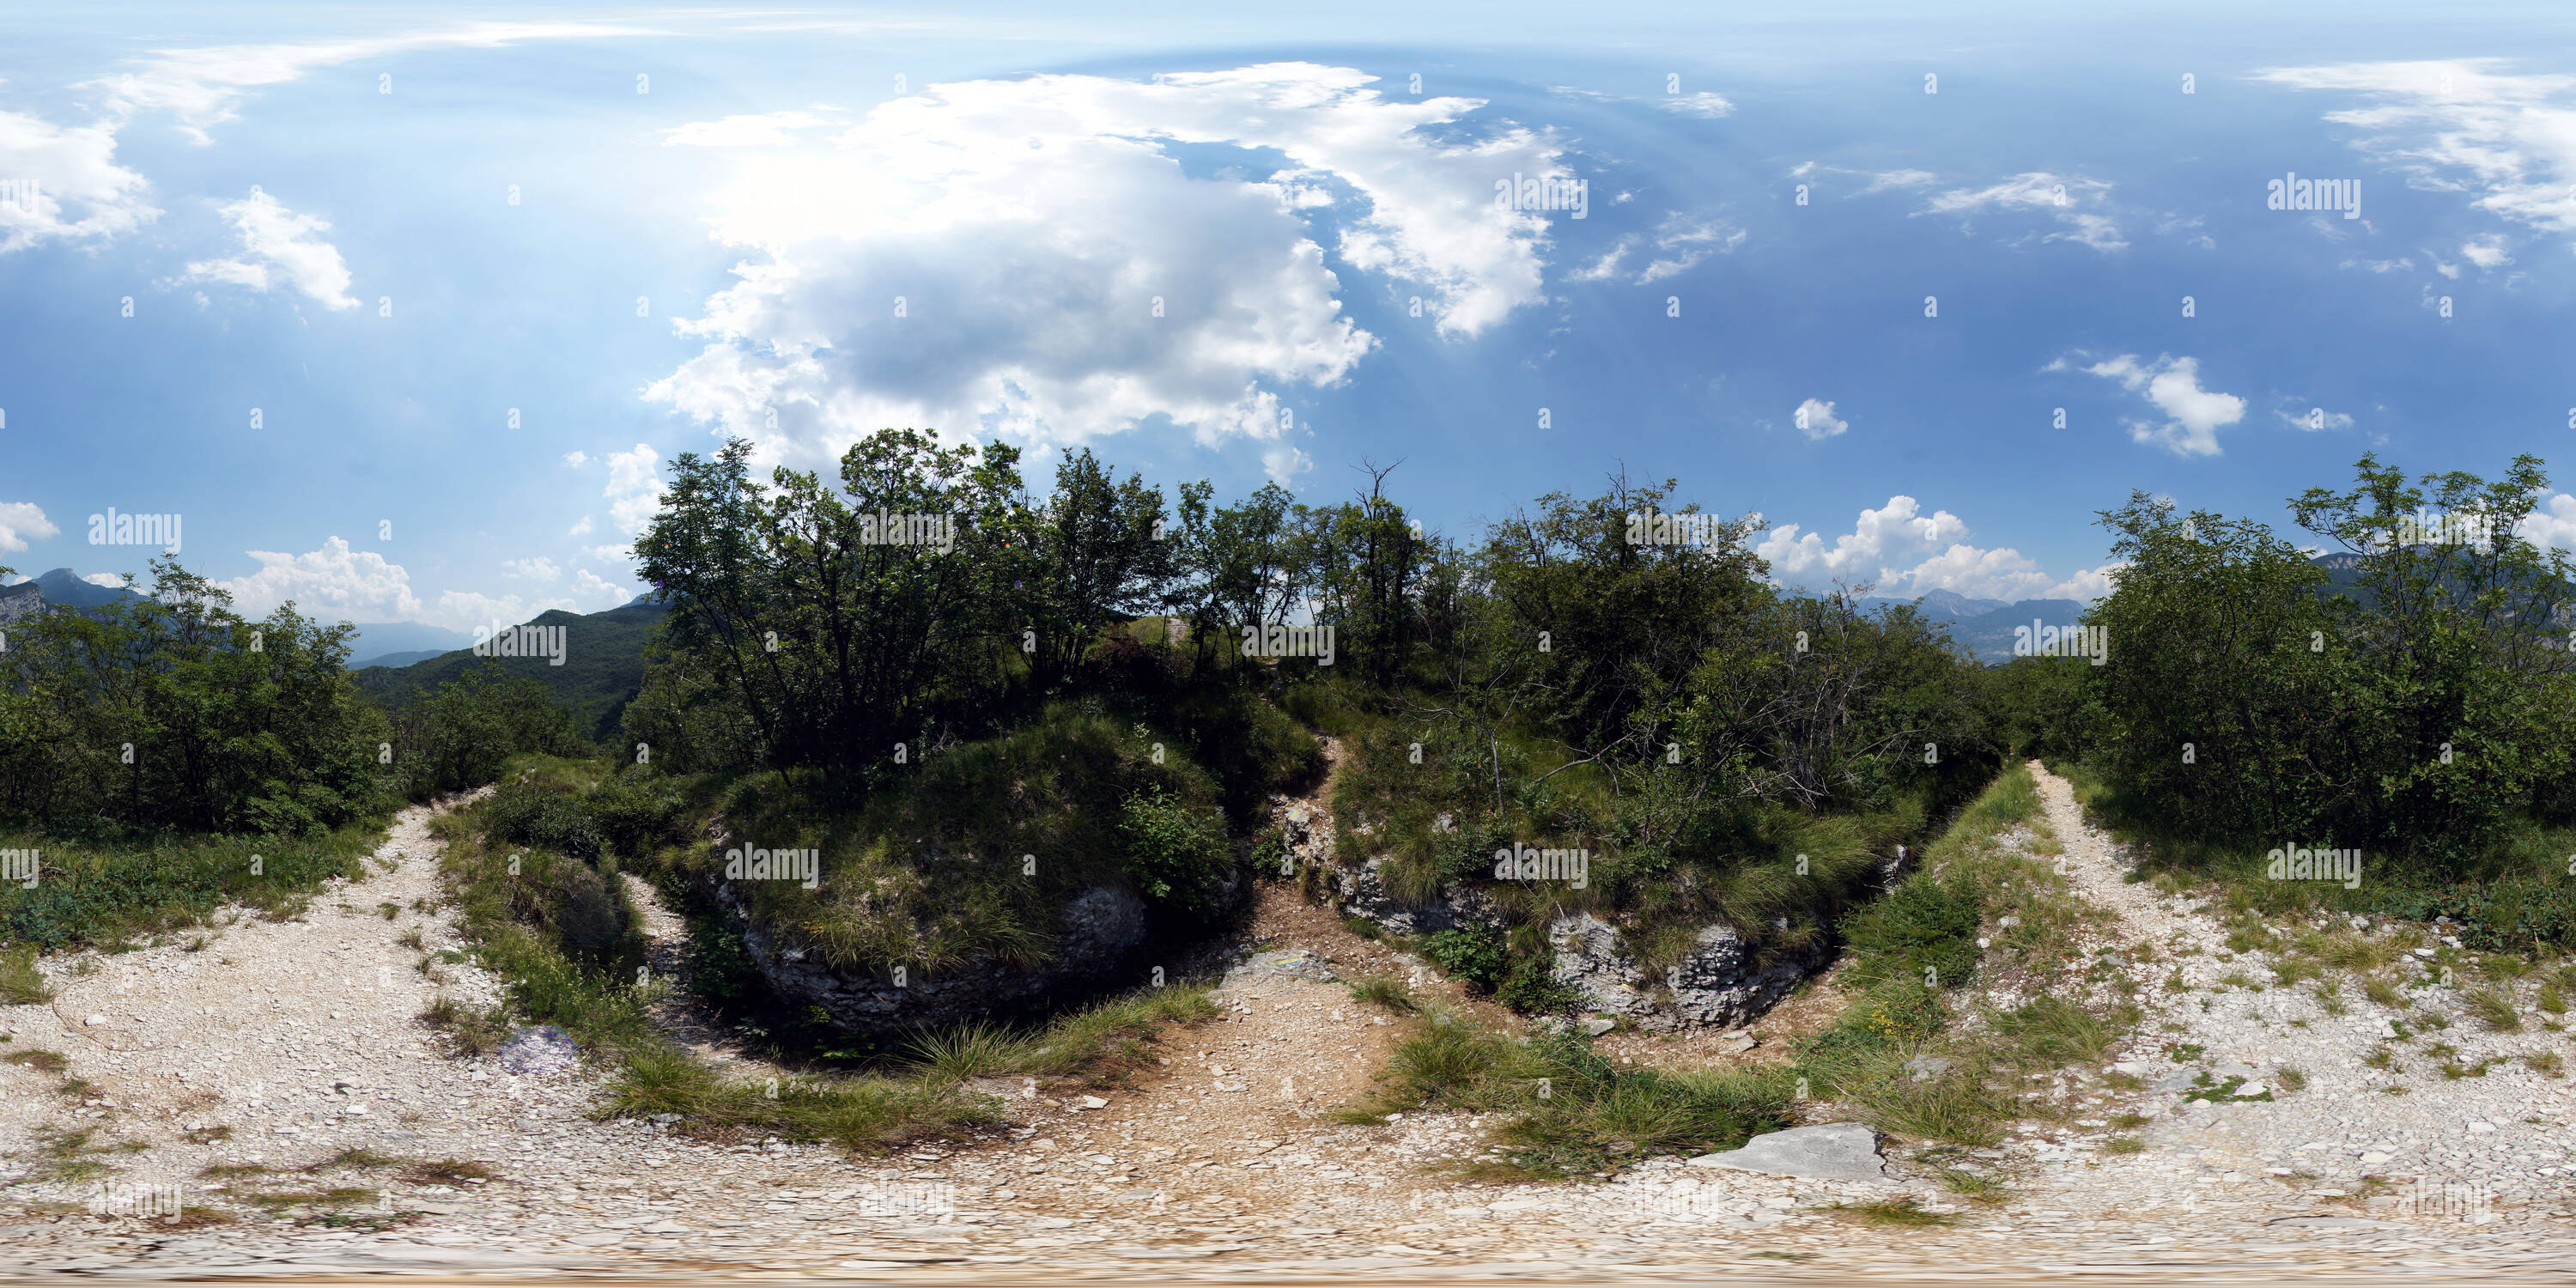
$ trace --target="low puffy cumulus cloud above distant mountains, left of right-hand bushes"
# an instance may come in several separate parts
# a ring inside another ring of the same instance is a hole
[[[1888,497],[1878,510],[1860,510],[1852,531],[1832,544],[1783,523],[1762,536],[1754,554],[1785,585],[1870,585],[1878,595],[1896,598],[1955,590],[1978,600],[2094,600],[2110,592],[2110,572],[2117,567],[2061,580],[2017,549],[1971,546],[1963,536],[1968,523],[1950,510],[1924,515],[1914,497]]]

